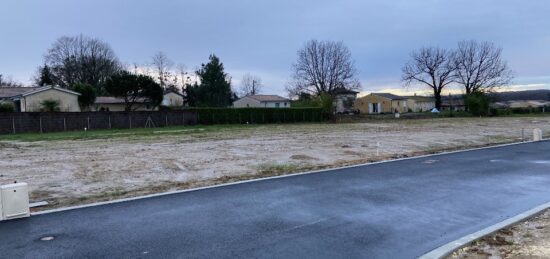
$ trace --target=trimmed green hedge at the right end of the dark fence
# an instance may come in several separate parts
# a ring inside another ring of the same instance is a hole
[[[263,124],[321,122],[322,108],[186,108],[197,112],[200,124]]]

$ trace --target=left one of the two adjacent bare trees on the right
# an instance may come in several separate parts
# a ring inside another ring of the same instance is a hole
[[[433,90],[435,107],[441,109],[441,92],[453,82],[453,53],[437,47],[411,53],[411,61],[402,69],[405,84],[420,83]]]

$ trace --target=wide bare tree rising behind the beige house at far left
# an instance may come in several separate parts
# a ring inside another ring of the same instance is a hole
[[[98,39],[79,35],[61,37],[45,55],[54,84],[70,88],[86,83],[103,92],[107,78],[121,69],[111,47]]]

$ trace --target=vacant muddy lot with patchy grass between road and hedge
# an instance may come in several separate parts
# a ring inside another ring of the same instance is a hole
[[[534,128],[549,133],[550,117],[0,136],[0,183],[27,182],[56,207],[520,141]]]

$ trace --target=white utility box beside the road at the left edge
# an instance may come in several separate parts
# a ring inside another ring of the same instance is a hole
[[[26,183],[0,186],[0,220],[30,216],[29,187]]]

